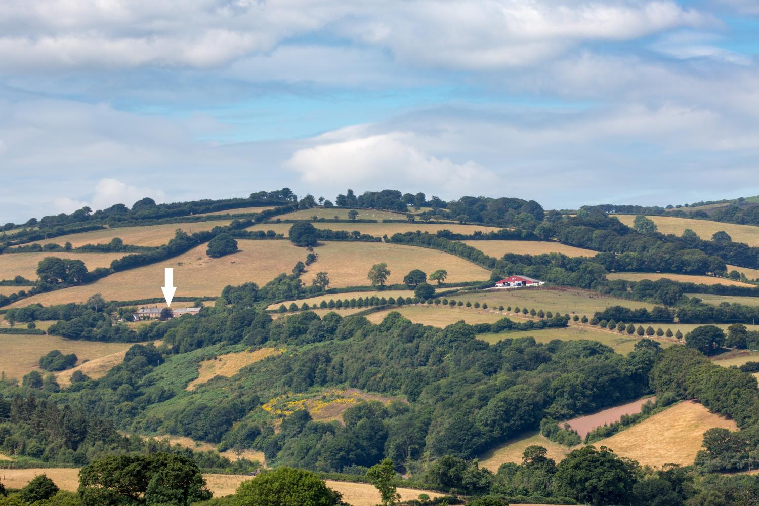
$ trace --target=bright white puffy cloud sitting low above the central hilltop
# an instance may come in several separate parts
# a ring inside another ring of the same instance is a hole
[[[333,137],[333,136],[330,136]],[[496,174],[468,160],[455,163],[423,152],[408,132],[354,137],[298,149],[285,166],[307,187],[425,188],[446,193],[487,187]]]

